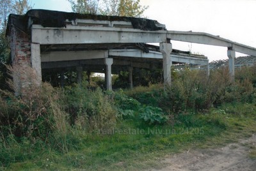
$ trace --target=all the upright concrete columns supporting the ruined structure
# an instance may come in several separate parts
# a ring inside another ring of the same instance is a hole
[[[163,54],[163,77],[164,77],[164,84],[170,85],[172,82],[171,77],[171,52],[172,52],[172,43],[170,40],[167,40],[164,43],[159,44],[159,48],[161,53]],[[234,61],[236,57],[236,52],[232,48],[228,48],[227,51],[228,55],[228,66],[229,72],[232,80],[234,80],[235,75],[235,68],[234,68]],[[105,80],[106,80],[106,89],[112,90],[112,81],[111,81],[111,65],[113,64],[112,58],[105,58],[104,64],[106,65],[106,73],[105,73]],[[35,68],[36,73],[38,75],[38,80],[42,80],[42,71],[41,71],[41,59],[40,59],[40,44],[31,43],[31,66]],[[130,87],[132,88],[132,67],[129,67],[129,81]],[[82,67],[77,67],[77,80],[78,83],[81,83],[82,80]],[[61,83],[63,84],[63,83]]]

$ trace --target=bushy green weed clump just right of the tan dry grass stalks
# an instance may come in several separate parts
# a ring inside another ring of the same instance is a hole
[[[84,82],[65,89],[66,110],[72,125],[88,132],[113,128],[117,113],[113,101],[99,88],[91,91],[86,87]]]

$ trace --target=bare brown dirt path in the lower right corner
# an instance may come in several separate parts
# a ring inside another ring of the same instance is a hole
[[[161,170],[256,170],[256,160],[248,157],[256,145],[256,135],[217,149],[198,149],[175,154],[163,161]]]

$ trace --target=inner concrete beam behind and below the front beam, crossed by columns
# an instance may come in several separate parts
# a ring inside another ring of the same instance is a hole
[[[45,62],[55,62],[55,61],[76,61],[84,59],[103,59],[108,56],[117,56],[120,60],[115,60],[114,64],[118,65],[130,65],[131,62],[123,61],[122,57],[137,57],[137,58],[148,58],[148,59],[163,59],[161,52],[150,51],[150,53],[144,53],[138,49],[127,49],[127,50],[84,50],[84,51],[61,51],[61,52],[50,52],[47,54],[41,54],[42,63]],[[192,63],[207,65],[208,59],[192,57],[192,56],[182,56],[171,54],[172,61],[177,63]],[[88,63],[92,63],[88,61]],[[95,64],[99,63],[98,61]],[[136,64],[136,63],[134,63]],[[139,67],[136,64],[136,67]],[[141,64],[140,64],[141,65]],[[149,68],[149,64],[142,64],[142,68]]]

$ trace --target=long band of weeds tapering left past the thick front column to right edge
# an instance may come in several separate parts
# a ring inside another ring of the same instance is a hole
[[[140,103],[161,107],[175,114],[186,110],[208,110],[223,103],[255,103],[254,68],[237,70],[235,82],[230,79],[228,68],[212,70],[209,77],[205,71],[186,68],[175,72],[170,87],[164,89],[162,85],[155,85],[154,89],[152,86],[144,87],[143,91],[133,89],[126,94]]]

